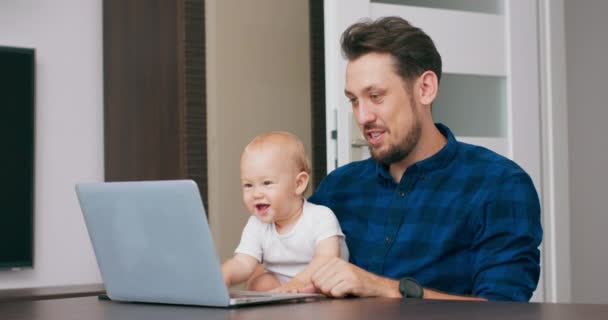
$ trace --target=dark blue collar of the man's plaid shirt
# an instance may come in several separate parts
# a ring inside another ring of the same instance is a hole
[[[435,169],[443,168],[448,163],[450,163],[452,159],[454,159],[454,156],[456,156],[456,152],[458,151],[458,141],[452,134],[452,131],[447,126],[441,123],[436,123],[435,126],[437,127],[439,132],[441,132],[441,134],[446,137],[447,143],[445,144],[445,146],[443,146],[443,148],[441,148],[441,150],[439,150],[434,155],[412,164],[408,168],[408,171],[411,171],[413,169],[418,172],[429,172]],[[391,176],[388,170],[388,166],[383,165],[378,161],[376,161],[376,173],[380,178],[391,181],[393,180],[393,177]]]

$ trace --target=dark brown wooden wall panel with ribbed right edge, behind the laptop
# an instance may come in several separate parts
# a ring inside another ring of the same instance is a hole
[[[207,201],[204,0],[104,0],[106,181],[193,179]]]

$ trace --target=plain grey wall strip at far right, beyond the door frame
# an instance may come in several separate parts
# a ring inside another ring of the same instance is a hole
[[[572,300],[608,303],[608,2],[564,4]]]

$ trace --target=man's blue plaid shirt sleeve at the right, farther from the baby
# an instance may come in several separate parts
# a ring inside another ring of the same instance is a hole
[[[530,177],[503,179],[474,225],[473,295],[529,301],[538,284],[542,240],[540,203]]]

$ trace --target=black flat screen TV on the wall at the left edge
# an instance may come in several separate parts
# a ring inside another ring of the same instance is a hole
[[[0,269],[34,266],[35,51],[0,46]]]

